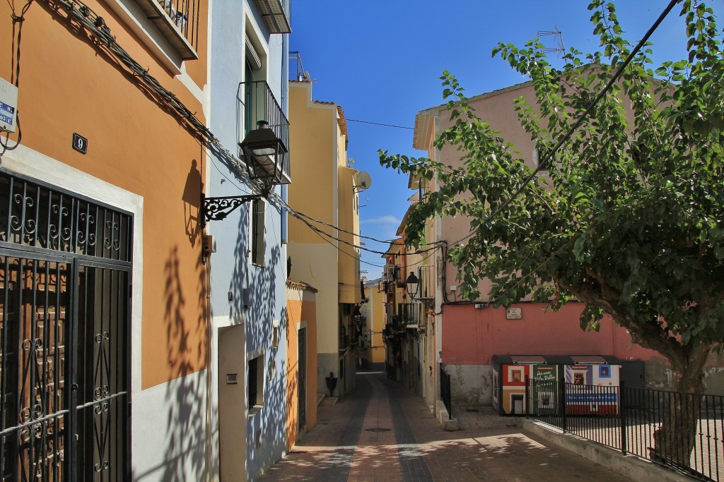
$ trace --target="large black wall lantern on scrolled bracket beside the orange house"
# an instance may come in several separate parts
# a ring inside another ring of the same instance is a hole
[[[257,128],[246,134],[239,147],[244,155],[249,178],[264,184],[263,194],[245,196],[205,197],[201,194],[201,224],[222,220],[245,202],[266,197],[274,184],[282,184],[287,147],[269,129],[269,122],[258,121]]]

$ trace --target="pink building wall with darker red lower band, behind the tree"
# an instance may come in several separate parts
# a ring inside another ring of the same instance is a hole
[[[488,121],[502,137],[512,142],[526,163],[535,167],[537,156],[529,134],[518,122],[513,101],[526,98],[535,105],[533,87],[529,82],[487,92],[468,99],[476,114]],[[434,147],[434,139],[450,126],[447,106],[420,111],[416,116],[413,147],[426,151],[426,157],[442,163],[460,163],[460,152],[445,146]],[[412,184],[412,181],[411,181]],[[435,180],[425,189],[435,189]],[[430,221],[427,244],[452,243],[470,232],[468,218],[438,218]],[[492,402],[492,357],[495,355],[560,355],[613,356],[620,361],[643,361],[641,385],[667,389],[670,371],[658,353],[641,348],[632,342],[628,332],[611,319],[602,320],[599,332],[584,332],[578,318],[584,304],[570,303],[560,311],[545,311],[543,304],[529,299],[508,309],[495,309],[489,304],[489,280],[481,280],[478,300],[467,301],[458,296],[458,270],[445,261],[442,252],[429,259],[434,277],[436,297],[434,334],[436,363],[442,363],[451,376],[453,405],[490,405]],[[718,367],[720,358],[712,355],[704,382],[707,392],[724,392],[724,374]],[[437,366],[431,371],[437,374]],[[436,400],[439,388],[436,387]]]

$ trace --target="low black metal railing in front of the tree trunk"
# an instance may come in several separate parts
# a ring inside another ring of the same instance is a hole
[[[724,481],[724,397],[633,387],[597,387],[555,380],[529,379],[526,416],[624,455],[652,460],[705,481]],[[689,437],[673,434],[657,449],[663,423],[676,426],[693,417]],[[690,440],[690,439],[689,439]],[[689,453],[690,452],[690,453]]]

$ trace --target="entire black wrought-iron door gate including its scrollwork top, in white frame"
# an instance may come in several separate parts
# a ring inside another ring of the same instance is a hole
[[[0,172],[0,480],[130,475],[131,215]]]

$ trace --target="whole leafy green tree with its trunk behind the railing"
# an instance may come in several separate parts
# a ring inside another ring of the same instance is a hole
[[[489,278],[497,306],[582,301],[581,328],[608,315],[668,360],[673,390],[701,394],[707,357],[724,346],[722,33],[703,2],[681,1],[689,56],[654,69],[652,47],[623,38],[613,4],[589,10],[600,52],[570,49],[554,68],[537,39],[493,50],[534,87],[536,104],[519,98],[515,110],[547,152],[547,175],[476,116],[449,72],[452,125],[434,147],[454,147],[460,163],[382,151],[380,162],[436,180],[408,215],[408,245],[424,242],[434,216],[469,218],[470,238],[448,252],[463,295]],[[689,466],[699,410],[677,400],[655,453]]]

